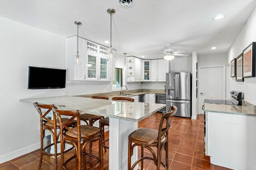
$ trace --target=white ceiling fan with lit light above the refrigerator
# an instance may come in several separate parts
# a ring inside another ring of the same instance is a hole
[[[182,54],[182,53],[189,53],[191,52],[189,49],[186,49],[186,50],[181,50],[181,49],[177,49],[177,50],[174,50],[174,49],[171,49],[172,44],[168,44],[166,45],[167,49],[164,49],[164,52],[161,51],[161,53],[164,53],[164,54],[160,54],[160,55],[164,55],[164,59],[166,60],[172,60],[174,59],[174,56],[180,56],[180,57],[188,57],[189,54]]]

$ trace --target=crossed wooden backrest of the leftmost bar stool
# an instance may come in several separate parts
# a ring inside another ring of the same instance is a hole
[[[50,113],[50,111],[52,111],[52,107],[54,107],[54,105],[42,105],[42,104],[38,104],[33,103],[34,107],[36,108],[36,110],[38,111],[39,115],[40,115],[40,121],[41,123],[46,123],[46,122],[50,122],[53,123],[54,125],[56,125],[56,119],[54,117],[54,120],[48,119],[46,117],[46,115],[48,115],[48,113]],[[48,109],[44,114],[42,113],[41,109]]]

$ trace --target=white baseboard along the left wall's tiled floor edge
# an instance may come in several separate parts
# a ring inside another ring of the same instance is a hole
[[[7,154],[0,155],[0,164],[2,164],[3,162],[6,162],[8,160],[12,160],[14,158],[17,158],[19,156],[22,156],[24,154],[27,154],[29,152],[32,152],[34,150],[37,150],[37,149],[40,148],[40,146],[41,146],[41,144],[40,144],[40,142],[38,142],[38,143],[35,143],[35,144],[32,144],[32,145],[26,146],[24,148],[14,150],[14,151],[9,152]]]

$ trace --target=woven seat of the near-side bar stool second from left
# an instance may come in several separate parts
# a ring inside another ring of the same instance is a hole
[[[74,130],[76,132],[78,131],[77,127],[72,128],[72,130]],[[86,136],[92,136],[92,135],[97,134],[98,132],[101,131],[100,128],[92,127],[92,126],[88,126],[88,125],[81,125],[80,130],[81,130],[80,131],[81,134],[84,134]],[[73,137],[73,138],[77,138],[77,134],[75,134],[73,132],[70,132],[70,131],[64,132],[63,135]],[[82,136],[81,136],[81,138],[82,138]]]

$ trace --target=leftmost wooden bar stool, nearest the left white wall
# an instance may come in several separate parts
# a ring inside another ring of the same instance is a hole
[[[38,170],[40,170],[40,168],[42,166],[43,154],[46,154],[48,156],[54,156],[54,159],[55,159],[54,168],[55,168],[55,170],[57,170],[57,156],[60,155],[60,153],[57,153],[57,143],[60,143],[60,141],[58,141],[58,139],[60,137],[60,132],[58,132],[58,134],[57,134],[57,129],[60,128],[60,126],[57,125],[59,123],[59,121],[56,119],[54,113],[52,115],[53,120],[50,120],[46,117],[48,115],[48,113],[50,113],[50,111],[52,111],[52,107],[54,107],[54,105],[40,105],[37,102],[33,103],[33,105],[40,115],[41,150],[40,150],[40,162],[39,162]],[[47,109],[47,111],[43,114],[41,109]],[[62,121],[67,122],[68,119],[62,118]],[[75,127],[75,126],[76,126],[76,120],[70,121],[67,124],[67,127]],[[45,130],[49,130],[50,133],[52,134],[53,143],[49,144],[43,148],[43,146],[44,146],[43,139],[45,136]],[[69,144],[71,144],[71,143],[69,143]],[[49,152],[46,152],[46,149],[48,149],[52,145],[54,145],[54,154],[50,154]],[[74,148],[74,146],[68,150],[65,150],[64,153],[69,152],[73,148]]]

